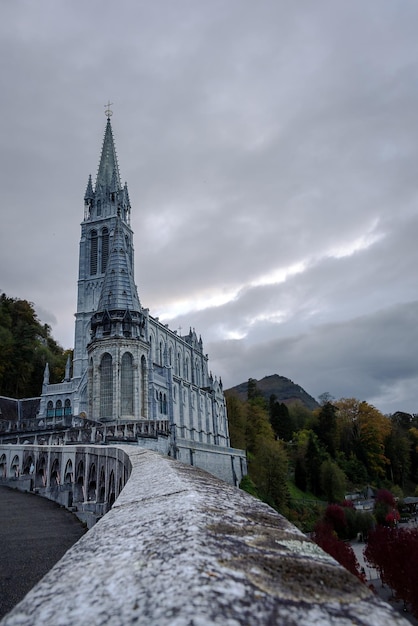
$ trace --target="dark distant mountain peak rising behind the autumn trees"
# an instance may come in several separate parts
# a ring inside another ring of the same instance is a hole
[[[225,393],[237,396],[240,400],[246,400],[247,385],[248,381],[245,381],[245,383],[227,389]],[[296,385],[289,378],[285,378],[285,376],[279,376],[278,374],[265,376],[261,380],[257,380],[257,389],[266,400],[269,400],[270,396],[275,395],[277,402],[284,402],[284,404],[292,404],[292,402],[299,400],[310,411],[319,407],[315,398],[312,398],[300,385]]]

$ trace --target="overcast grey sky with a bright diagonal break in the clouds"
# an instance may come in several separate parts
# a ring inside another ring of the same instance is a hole
[[[73,346],[106,118],[143,306],[228,388],[418,412],[416,0],[7,0],[0,291]]]

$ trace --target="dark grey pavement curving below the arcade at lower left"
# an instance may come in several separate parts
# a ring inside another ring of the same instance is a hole
[[[85,532],[55,502],[0,486],[0,619]]]

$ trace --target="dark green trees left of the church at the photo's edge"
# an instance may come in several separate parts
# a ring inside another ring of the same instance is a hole
[[[50,381],[64,377],[69,351],[52,338],[27,300],[0,296],[0,395],[11,398],[39,396],[45,364]]]

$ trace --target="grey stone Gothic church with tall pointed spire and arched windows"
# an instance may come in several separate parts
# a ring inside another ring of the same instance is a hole
[[[245,453],[230,447],[222,381],[209,370],[202,338],[171,330],[139,300],[131,202],[109,110],[97,178],[84,195],[75,319],[72,363],[59,384],[50,384],[46,366],[39,419],[166,422],[166,443],[148,439],[148,447],[240,480]]]

